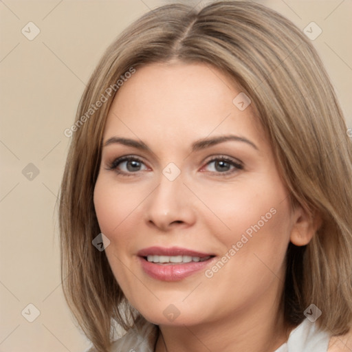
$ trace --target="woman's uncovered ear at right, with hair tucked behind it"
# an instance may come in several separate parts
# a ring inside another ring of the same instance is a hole
[[[313,238],[320,225],[322,218],[318,212],[311,212],[303,206],[296,206],[293,211],[293,225],[290,240],[294,245],[307,245]]]

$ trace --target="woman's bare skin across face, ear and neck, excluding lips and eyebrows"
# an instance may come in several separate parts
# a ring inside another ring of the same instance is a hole
[[[289,241],[307,244],[317,224],[303,208],[290,208],[252,105],[240,111],[232,103],[239,93],[228,75],[209,65],[153,63],[124,83],[107,116],[103,142],[115,136],[142,140],[152,152],[118,143],[102,149],[94,205],[100,230],[111,241],[105,252],[124,295],[159,325],[168,352],[274,351],[293,328],[278,310],[285,253]],[[257,149],[228,141],[190,150],[196,140],[228,134]],[[142,163],[109,169],[124,155]],[[240,161],[243,169],[221,168],[212,156]],[[162,173],[170,162],[181,171],[174,181]],[[158,281],[137,260],[137,252],[152,245],[212,253],[219,260],[271,208],[272,219],[212,278],[201,270],[181,281]],[[163,314],[170,304],[179,311],[172,322]],[[155,351],[166,351],[162,338]]]

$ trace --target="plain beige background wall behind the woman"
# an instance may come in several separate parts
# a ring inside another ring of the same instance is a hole
[[[54,207],[69,143],[63,131],[72,125],[107,45],[148,8],[170,2],[0,1],[2,352],[79,352],[89,346],[72,322],[60,284]],[[311,21],[322,29],[314,45],[352,127],[352,1],[258,2],[301,30]],[[41,31],[32,41],[21,33],[29,32],[30,21]],[[30,163],[39,175],[30,174]],[[34,316],[26,308],[30,303],[40,311],[34,322],[24,318]]]

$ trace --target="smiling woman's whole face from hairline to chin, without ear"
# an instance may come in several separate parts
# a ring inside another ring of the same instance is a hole
[[[155,324],[275,313],[294,214],[247,104],[201,63],[137,68],[115,96],[94,205],[116,280]]]

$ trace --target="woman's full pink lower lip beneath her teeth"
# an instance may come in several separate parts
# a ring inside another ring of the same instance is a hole
[[[207,261],[191,261],[190,263],[182,264],[158,264],[151,263],[139,256],[138,259],[142,265],[142,269],[146,274],[152,278],[156,278],[160,281],[179,281],[186,278],[200,270],[204,270],[206,266],[213,261],[215,257],[208,259]]]

